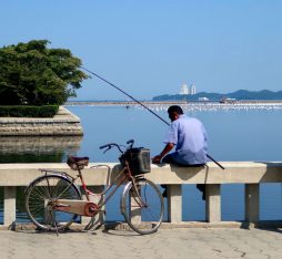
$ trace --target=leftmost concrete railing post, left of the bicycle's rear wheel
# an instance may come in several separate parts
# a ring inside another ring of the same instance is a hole
[[[4,226],[10,226],[16,221],[16,187],[4,187]]]

